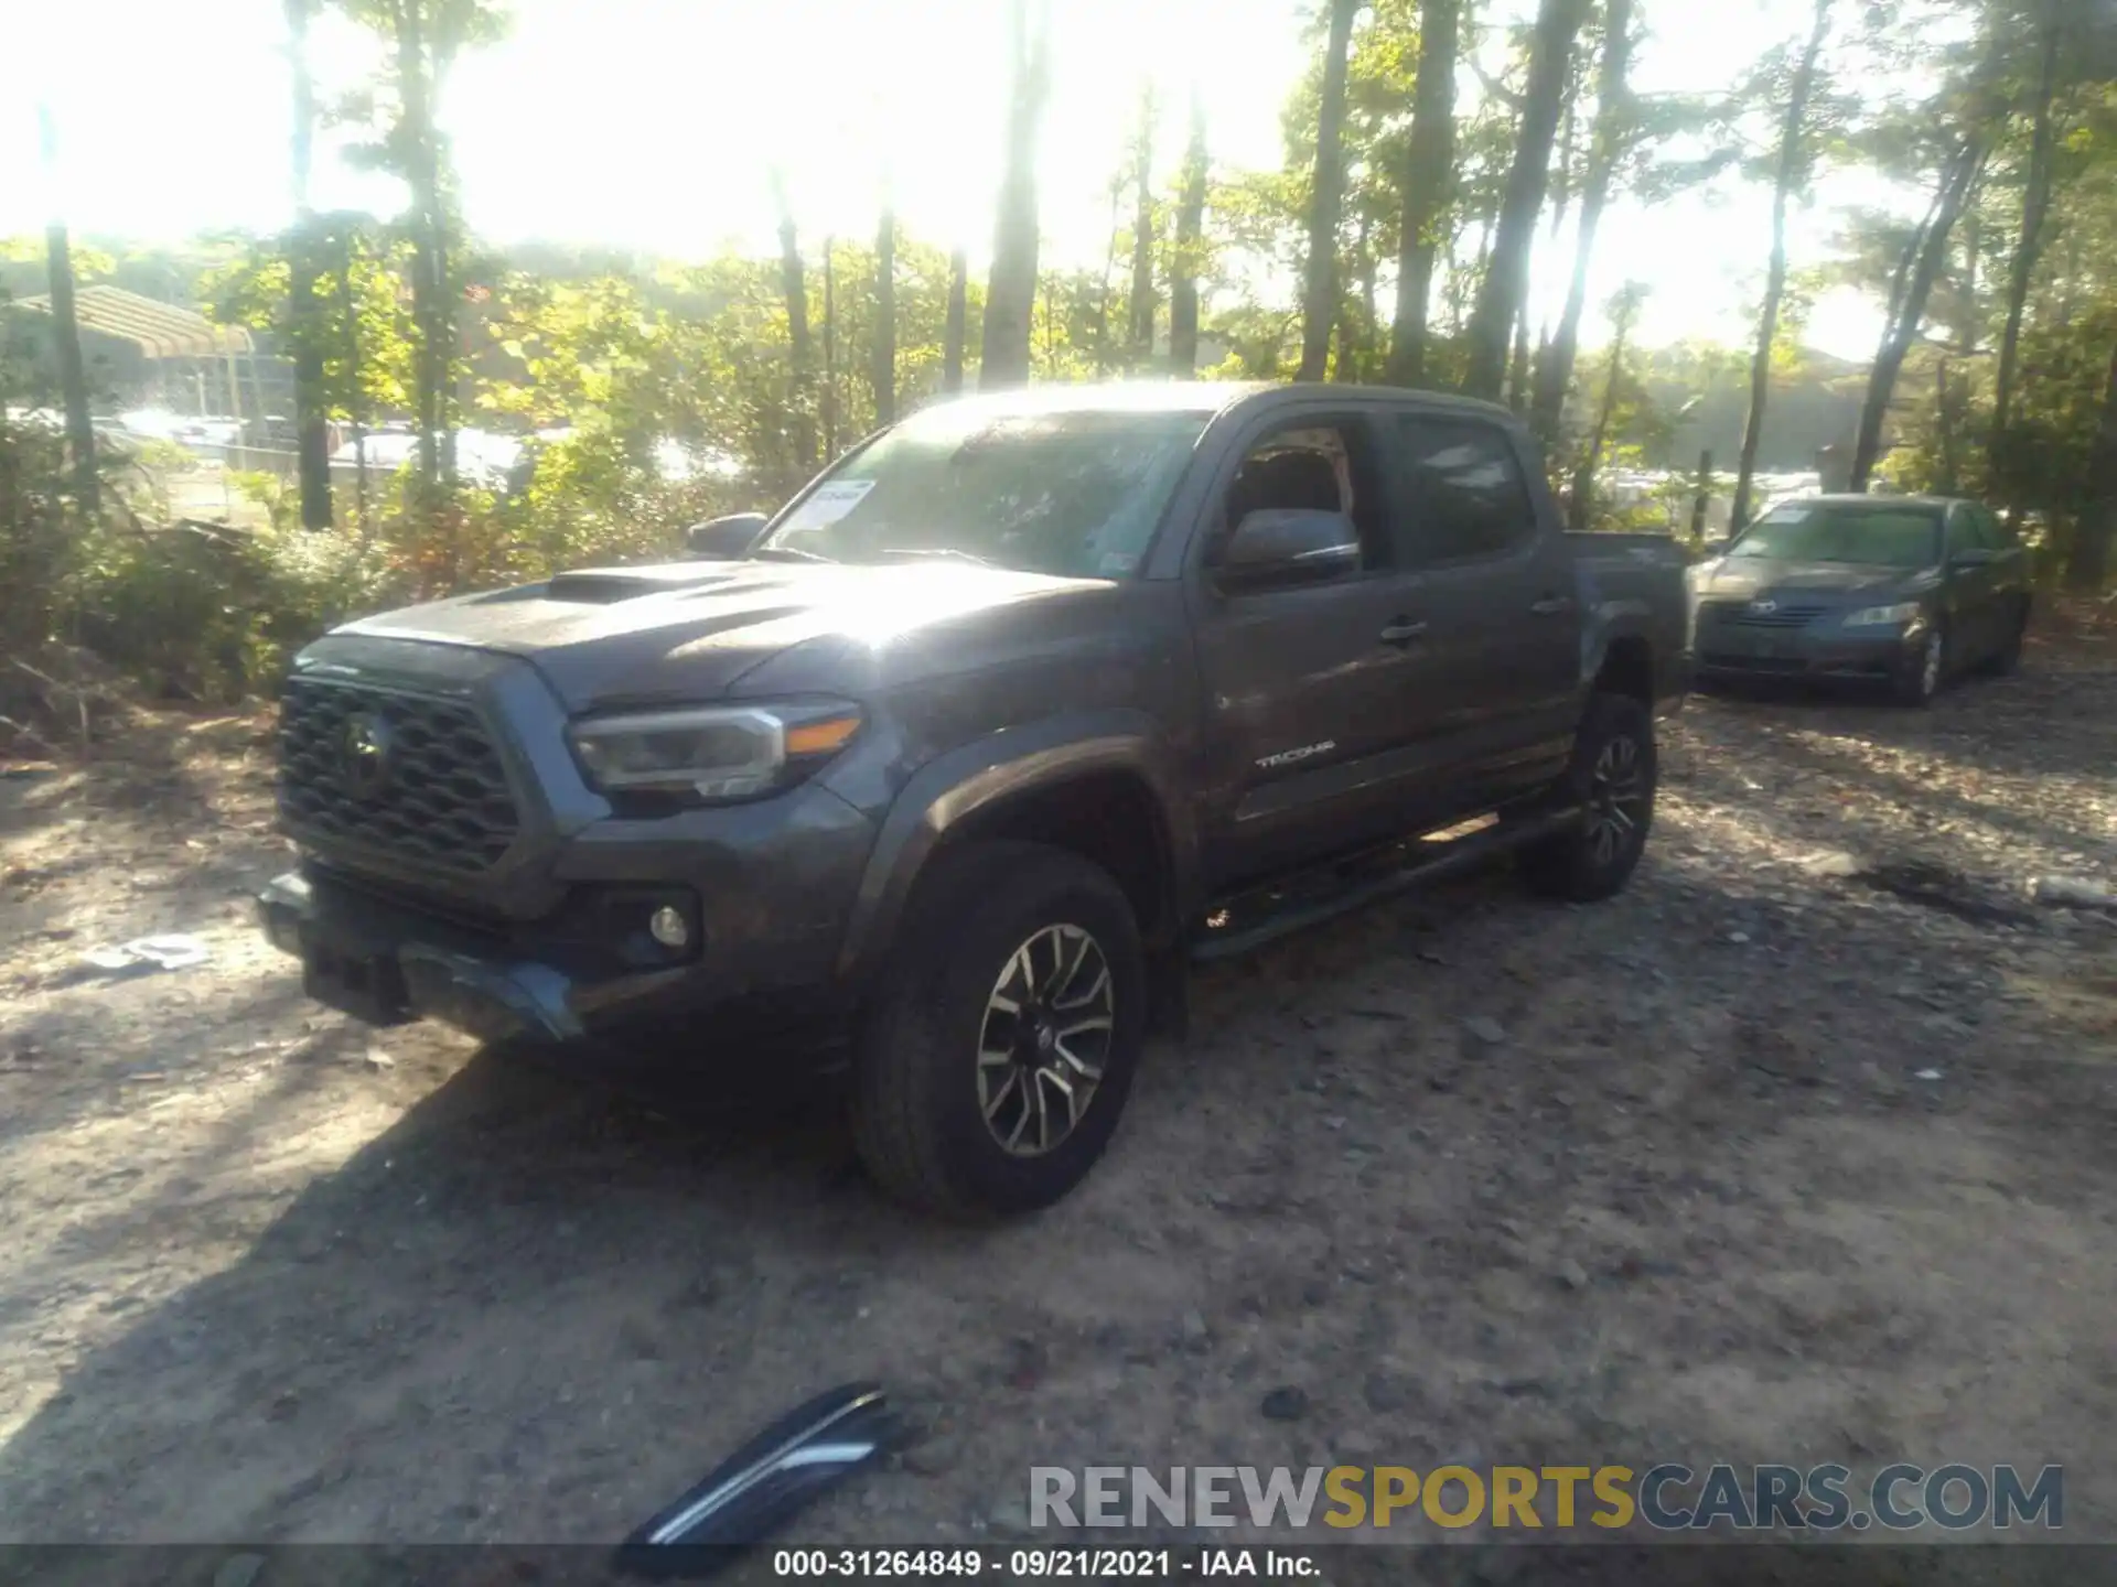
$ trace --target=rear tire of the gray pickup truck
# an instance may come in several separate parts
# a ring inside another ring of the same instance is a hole
[[[1624,891],[1647,849],[1655,779],[1653,713],[1628,694],[1592,694],[1567,772],[1567,796],[1586,817],[1522,851],[1524,880],[1571,904]]]

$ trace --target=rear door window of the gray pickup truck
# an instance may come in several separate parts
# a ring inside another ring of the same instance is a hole
[[[1537,533],[1537,508],[1505,430],[1482,419],[1395,415],[1406,567],[1503,557]]]

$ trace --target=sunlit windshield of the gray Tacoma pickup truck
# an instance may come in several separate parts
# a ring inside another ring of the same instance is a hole
[[[1124,578],[1205,425],[1202,413],[934,408],[845,459],[758,550]]]

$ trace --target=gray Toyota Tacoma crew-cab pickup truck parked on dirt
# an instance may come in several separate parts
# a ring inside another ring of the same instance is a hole
[[[849,1050],[881,1185],[1020,1212],[1101,1155],[1188,961],[1499,853],[1558,897],[1624,887],[1683,561],[1567,535],[1486,404],[948,402],[741,561],[309,645],[265,927],[373,1022]]]

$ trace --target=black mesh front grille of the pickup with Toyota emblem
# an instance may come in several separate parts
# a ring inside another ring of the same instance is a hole
[[[349,738],[385,749],[362,777]],[[279,696],[279,815],[298,834],[453,874],[491,870],[521,829],[500,749],[459,700],[290,679]]]

